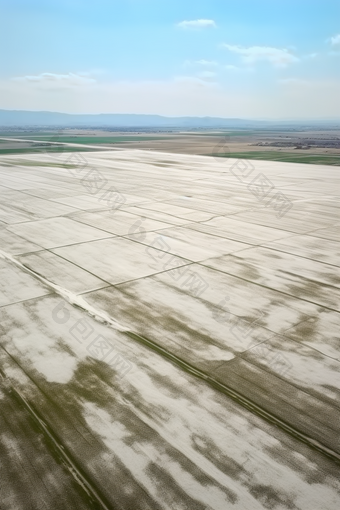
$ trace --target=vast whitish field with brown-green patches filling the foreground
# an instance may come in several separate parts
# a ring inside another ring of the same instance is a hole
[[[0,183],[1,510],[339,508],[339,167],[6,154]]]

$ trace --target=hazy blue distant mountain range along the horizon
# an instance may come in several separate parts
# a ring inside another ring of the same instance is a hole
[[[114,128],[260,128],[272,126],[339,126],[338,119],[246,120],[219,117],[163,117],[161,115],[101,113],[69,114],[46,111],[0,110],[2,127],[114,127]]]

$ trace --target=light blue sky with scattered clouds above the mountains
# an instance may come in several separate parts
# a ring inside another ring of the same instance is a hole
[[[340,117],[339,0],[0,0],[0,108]]]

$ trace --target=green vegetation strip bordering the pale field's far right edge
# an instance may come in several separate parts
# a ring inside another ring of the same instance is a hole
[[[340,166],[340,155],[334,154],[292,154],[280,151],[250,151],[250,152],[220,152],[211,154],[219,158],[262,159],[267,161],[282,161],[285,163],[309,163],[314,165]]]

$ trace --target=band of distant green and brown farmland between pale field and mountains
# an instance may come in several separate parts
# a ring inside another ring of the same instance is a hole
[[[340,165],[337,129],[239,129],[110,132],[96,129],[0,131],[0,154],[144,149],[175,154]]]

